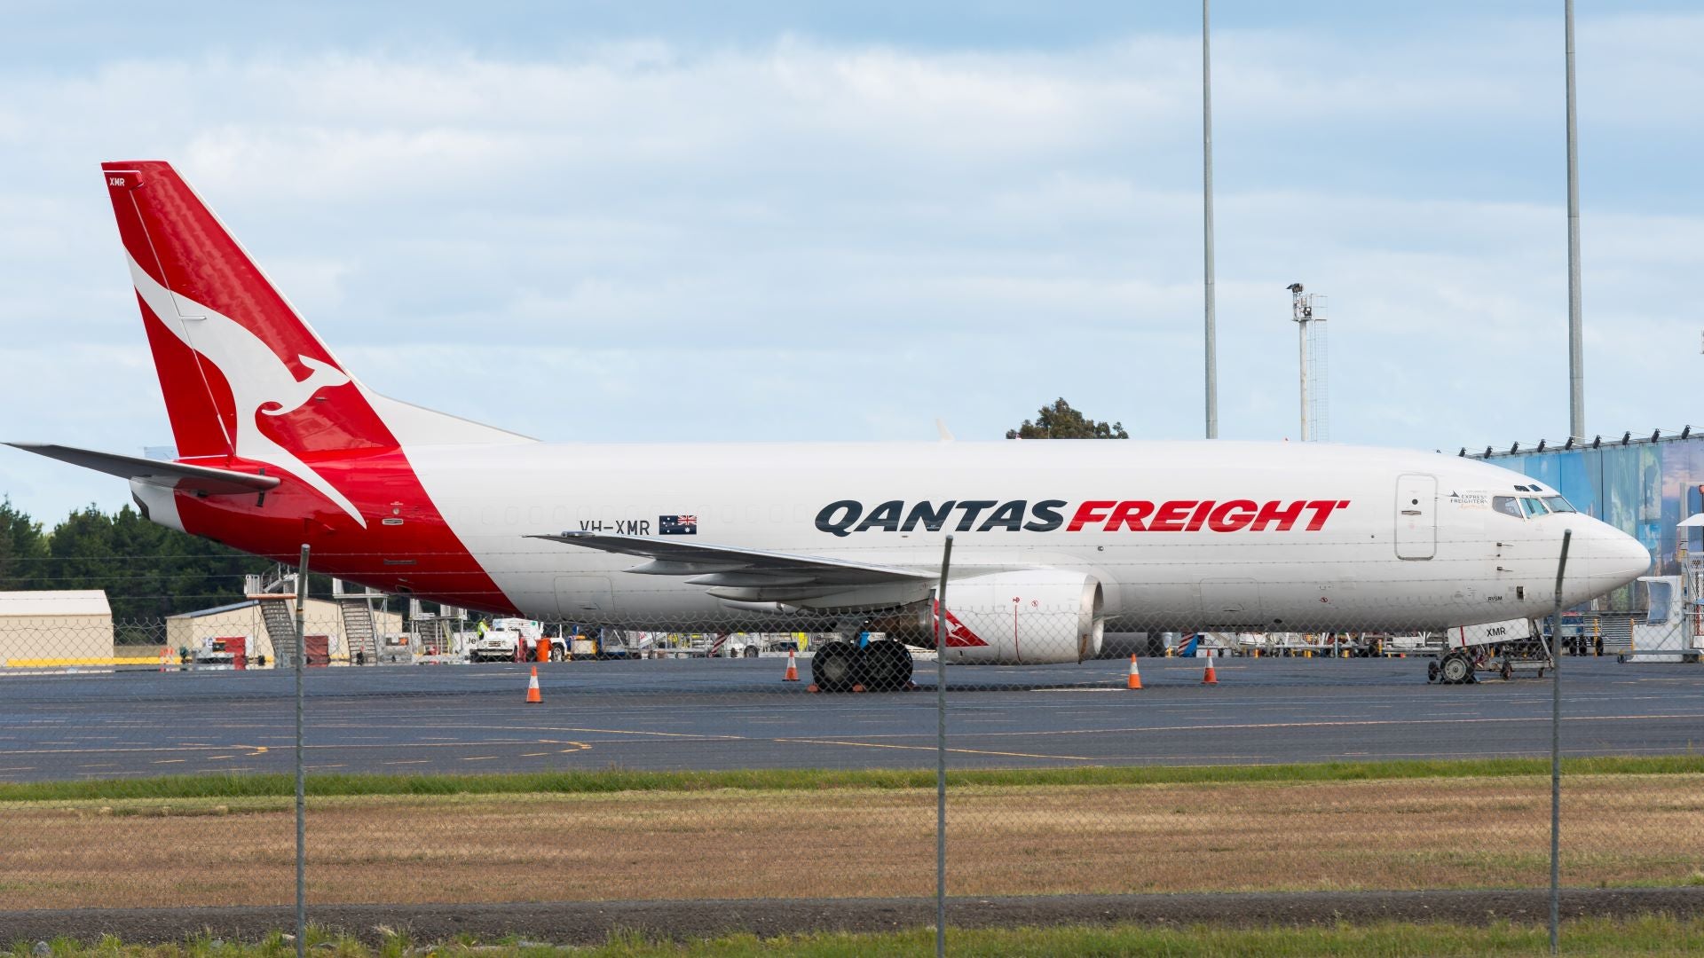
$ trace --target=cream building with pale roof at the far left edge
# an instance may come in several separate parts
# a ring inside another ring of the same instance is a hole
[[[112,655],[106,592],[0,592],[0,667],[106,665]]]

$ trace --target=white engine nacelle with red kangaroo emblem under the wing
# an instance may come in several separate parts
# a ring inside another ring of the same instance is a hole
[[[1024,569],[947,585],[947,661],[1046,665],[1101,651],[1101,583],[1082,573]],[[934,644],[930,639],[929,644]]]

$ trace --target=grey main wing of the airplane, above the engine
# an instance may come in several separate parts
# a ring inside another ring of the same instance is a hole
[[[619,552],[649,559],[627,569],[646,576],[692,576],[692,585],[714,588],[809,590],[815,586],[869,586],[930,583],[935,573],[920,573],[898,566],[849,563],[825,556],[792,556],[740,549],[736,545],[709,545],[658,539],[649,535],[615,535],[605,532],[562,532],[557,535],[530,535],[569,545],[583,545],[602,552]]]

